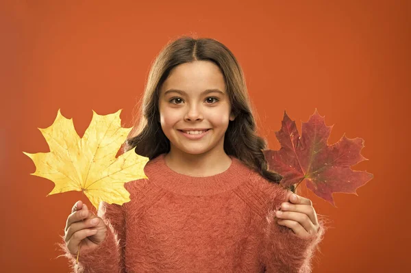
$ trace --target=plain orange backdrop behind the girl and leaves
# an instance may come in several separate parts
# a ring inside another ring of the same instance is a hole
[[[80,136],[92,117],[123,109],[131,127],[149,66],[182,34],[223,42],[238,58],[262,135],[284,109],[316,107],[342,136],[365,140],[353,167],[375,178],[337,208],[302,189],[332,226],[313,272],[405,272],[410,254],[410,1],[2,1],[1,271],[69,272],[57,242],[80,192],[46,197],[27,153],[61,108]],[[284,3],[287,2],[287,3]],[[408,125],[407,125],[408,124]],[[407,190],[408,189],[408,190]],[[411,272],[411,271],[409,271]]]

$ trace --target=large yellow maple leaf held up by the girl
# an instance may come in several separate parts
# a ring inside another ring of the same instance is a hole
[[[100,201],[123,205],[129,202],[124,183],[147,178],[144,173],[149,159],[134,149],[116,158],[132,128],[122,128],[121,109],[105,116],[92,112],[92,120],[83,138],[74,129],[73,118],[58,110],[53,125],[38,128],[49,144],[49,153],[25,153],[36,165],[38,177],[45,177],[55,187],[47,194],[83,191],[97,209]]]

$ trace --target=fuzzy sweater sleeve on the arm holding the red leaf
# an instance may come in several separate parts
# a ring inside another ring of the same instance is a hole
[[[289,190],[272,187],[271,202],[266,207],[262,261],[266,273],[309,273],[311,260],[325,233],[325,218],[317,213],[320,229],[308,238],[298,237],[288,226],[277,224],[275,211],[286,201]]]

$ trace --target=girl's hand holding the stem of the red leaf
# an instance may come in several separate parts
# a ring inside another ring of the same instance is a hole
[[[281,204],[281,211],[276,211],[278,224],[288,226],[294,233],[303,239],[316,235],[320,225],[316,216],[312,202],[308,198],[290,194],[290,202]]]

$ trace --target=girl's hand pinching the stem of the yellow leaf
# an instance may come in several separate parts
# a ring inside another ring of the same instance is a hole
[[[103,219],[89,211],[81,200],[74,204],[71,212],[64,229],[64,241],[71,254],[77,255],[80,242],[82,250],[97,248],[107,233]]]

